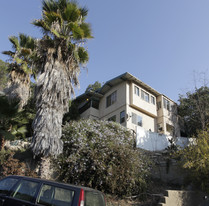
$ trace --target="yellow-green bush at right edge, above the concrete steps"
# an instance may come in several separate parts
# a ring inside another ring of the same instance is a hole
[[[195,143],[174,154],[188,170],[191,181],[209,192],[209,128],[199,131]]]

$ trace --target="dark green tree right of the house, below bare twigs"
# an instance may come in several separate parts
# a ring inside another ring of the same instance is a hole
[[[185,135],[196,135],[209,124],[209,88],[204,86],[195,92],[180,95],[178,114],[183,120]]]

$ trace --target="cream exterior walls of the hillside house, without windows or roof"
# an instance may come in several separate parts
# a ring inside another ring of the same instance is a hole
[[[137,79],[130,78],[122,81],[121,78],[119,80],[115,81],[114,79],[113,84],[112,82],[110,84],[107,83],[100,96],[99,109],[90,107],[81,114],[81,117],[108,120],[115,116],[115,121],[120,123],[120,114],[124,111],[125,121],[122,125],[128,129],[136,132],[136,127],[141,126],[141,128],[151,132],[174,136],[180,135],[176,110],[173,110],[176,107],[175,102]],[[108,85],[113,86],[107,91]],[[138,88],[139,94],[135,92],[135,87]],[[142,91],[146,93],[146,95],[144,94],[146,97],[149,96],[149,100],[148,98],[143,98]],[[114,92],[117,92],[116,101],[107,106],[107,97]],[[151,97],[152,100],[154,99],[154,102],[151,101]],[[169,104],[169,109],[164,108],[164,99]],[[140,125],[141,122],[138,120],[140,117],[142,118],[142,125]]]

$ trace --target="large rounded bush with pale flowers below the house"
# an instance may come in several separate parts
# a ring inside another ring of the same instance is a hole
[[[133,148],[125,127],[99,120],[72,121],[63,128],[64,151],[55,167],[64,182],[118,196],[139,194],[148,184],[149,161]]]

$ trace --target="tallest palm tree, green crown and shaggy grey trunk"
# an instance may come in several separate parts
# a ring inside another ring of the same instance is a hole
[[[69,0],[44,0],[42,18],[33,24],[41,28],[43,38],[37,46],[40,74],[36,88],[37,114],[33,122],[32,150],[47,159],[62,152],[63,115],[77,86],[80,66],[88,61],[83,47],[92,38],[85,23],[88,10]]]

